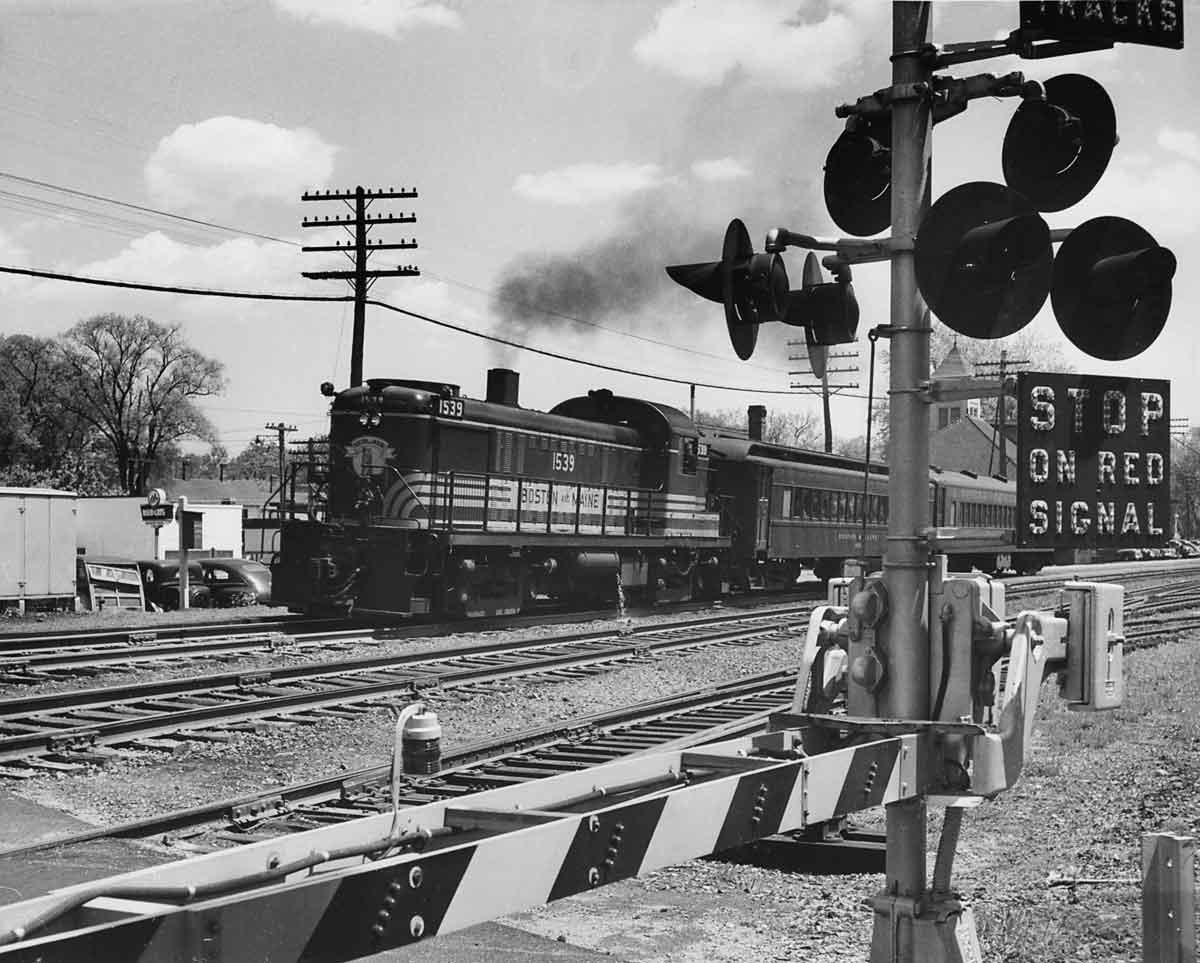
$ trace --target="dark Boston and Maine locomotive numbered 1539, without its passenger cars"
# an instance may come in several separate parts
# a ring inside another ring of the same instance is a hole
[[[371,379],[332,402],[323,519],[282,526],[272,566],[293,609],[505,615],[539,597],[716,596],[727,548],[691,419],[590,391],[551,412]]]

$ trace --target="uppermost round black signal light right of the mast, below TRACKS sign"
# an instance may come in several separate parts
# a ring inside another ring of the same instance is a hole
[[[1016,108],[1004,133],[1004,183],[1037,210],[1064,210],[1097,185],[1117,143],[1108,92],[1091,77],[1063,73],[1044,84],[1045,97]]]

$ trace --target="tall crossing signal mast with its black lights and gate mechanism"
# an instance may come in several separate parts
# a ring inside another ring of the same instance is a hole
[[[937,48],[930,41],[931,4],[893,4],[892,86],[838,108],[847,124],[829,152],[824,179],[827,207],[840,228],[865,237],[890,225],[889,238],[822,240],[773,228],[766,252],[757,253],[744,225],[734,220],[720,261],[667,268],[680,285],[724,304],[734,352],[748,359],[758,325],[770,321],[804,327],[810,345],[853,341],[858,307],[850,264],[892,263],[890,323],[872,331],[892,340],[888,542],[882,578],[857,579],[848,586],[847,702],[851,716],[917,720],[912,724],[931,734],[946,772],[925,792],[887,807],[887,885],[875,901],[872,963],[972,956],[973,922],[949,892],[962,811],[947,809],[930,887],[926,797],[968,786],[972,792],[982,791],[991,749],[978,741],[973,752],[966,749],[950,720],[982,718],[979,659],[989,647],[1013,646],[1010,671],[1018,671],[1019,658],[1032,659],[1034,645],[1033,620],[1024,629],[1020,624],[1012,632],[996,628],[1003,615],[1002,596],[997,599],[990,588],[944,578],[931,567],[931,549],[936,550],[940,536],[953,533],[930,528],[928,457],[920,454],[929,444],[929,403],[977,396],[978,388],[930,383],[930,311],[960,334],[995,339],[1032,321],[1050,295],[1060,327],[1076,347],[1092,357],[1122,360],[1153,342],[1170,307],[1175,256],[1138,225],[1098,217],[1070,231],[1051,232],[1040,216],[1040,211],[1063,210],[1081,199],[1108,165],[1116,144],[1116,120],[1103,88],[1079,74],[1055,77],[1043,85],[1026,82],[1021,73],[955,79],[935,77],[934,71],[1001,54],[1042,58],[1103,49],[1115,41],[1178,49],[1183,5],[1178,0],[1117,0],[1020,6],[1021,26],[1007,40]],[[980,96],[1022,101],[1004,140],[1008,185],[966,184],[931,204],[931,128]],[[1062,244],[1057,259],[1052,241]],[[790,246],[833,251],[824,264],[834,270],[835,283],[814,285],[806,264],[804,286],[790,291],[781,259]],[[1025,524],[1019,516],[1019,528]],[[1111,622],[1121,608],[1120,586],[1092,588],[1087,603],[1094,610],[1092,617],[1100,602]],[[989,592],[990,598],[985,597]],[[966,598],[971,602],[962,608]],[[954,629],[955,614],[976,628]],[[1082,609],[1075,615],[1076,622],[1086,621]],[[814,616],[806,666],[820,665],[821,652],[833,645],[833,622],[821,628],[829,617],[828,612]],[[1037,632],[1042,628],[1038,620]],[[991,641],[989,632],[994,632]],[[941,646],[935,635],[941,636]],[[1120,659],[1117,633],[1109,639],[1111,671],[1114,659]],[[1044,645],[1042,650],[1045,656]],[[952,651],[959,657],[947,659]],[[964,676],[955,662],[973,668]],[[809,684],[804,670],[800,682]],[[1111,676],[1106,682],[1111,684],[1105,699],[1120,690]],[[1036,692],[1032,675],[1030,684]],[[1030,716],[1036,695],[1033,700],[1026,702]],[[798,696],[798,712],[805,701]],[[1004,711],[1015,705],[1009,702]],[[1002,765],[1009,776],[1010,761],[1012,753]],[[955,767],[958,776],[966,776],[968,762],[973,762],[972,778],[958,778]],[[1010,783],[1012,778],[1001,779],[997,788]]]

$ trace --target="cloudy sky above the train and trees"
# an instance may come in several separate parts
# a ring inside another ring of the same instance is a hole
[[[935,2],[934,42],[992,40],[1016,2]],[[1188,29],[1200,4],[1186,0]],[[472,331],[595,361],[598,370],[367,309],[365,376],[448,381],[482,396],[492,366],[521,372],[521,403],[546,409],[589,388],[683,409],[818,412],[803,331],[762,329],[749,361],[720,305],[666,264],[715,259],[740,217],[836,237],[822,167],[834,115],[890,79],[882,0],[0,0],[0,265],[262,293],[349,293],[300,273],[346,267],[304,253],[337,203],[306,191],[414,187],[414,238],[377,252],[372,297]],[[1200,425],[1200,58],[1192,49],[1020,60],[956,77],[1082,72],[1112,97],[1121,143],[1099,185],[1046,215],[1073,227],[1138,221],[1178,259],[1158,341],[1123,363],[1088,358],[1049,301],[1030,325],[1075,370],[1170,378],[1172,411]],[[1012,98],[972,101],[934,136],[934,197],[1002,181]],[[31,181],[40,181],[35,184]],[[66,189],[66,190],[64,190]],[[120,207],[80,192],[136,205]],[[178,215],[176,217],[164,216]],[[180,217],[220,225],[204,227]],[[798,286],[803,251],[785,261]],[[331,259],[332,258],[332,259]],[[887,323],[887,265],[859,265],[857,373],[833,400],[838,436],[863,433],[869,327]],[[349,383],[352,306],[119,291],[0,274],[0,334],[59,334],[97,313],[178,323],[224,365],[200,407],[232,451],[268,421],[322,431],[319,385]],[[972,345],[960,340],[970,357]],[[851,348],[852,351],[856,348]],[[1037,367],[1038,359],[1031,359]],[[672,378],[676,382],[635,376]],[[788,372],[798,372],[790,375]],[[810,385],[788,393],[793,384]],[[764,389],[781,394],[756,395]]]

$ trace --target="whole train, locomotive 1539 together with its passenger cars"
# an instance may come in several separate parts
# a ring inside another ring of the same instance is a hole
[[[859,462],[756,437],[757,406],[730,437],[607,389],[550,412],[520,407],[517,389],[492,369],[482,400],[386,378],[337,393],[328,460],[306,467],[319,497],[281,525],[276,602],[508,615],[546,598],[715,598],[882,555],[886,468],[864,494]],[[930,498],[935,525],[978,530],[964,564],[1012,563],[1010,483],[935,472]]]

